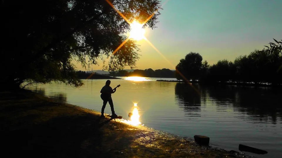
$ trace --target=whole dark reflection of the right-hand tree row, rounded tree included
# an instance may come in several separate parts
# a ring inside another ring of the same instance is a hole
[[[216,101],[217,108],[226,105],[233,106],[234,111],[249,115],[250,119],[276,123],[277,118],[282,120],[282,92],[274,91],[267,87],[241,87],[241,86],[199,86],[193,85],[199,90],[199,95],[188,84],[177,83],[175,85],[175,100],[186,114],[199,116],[201,104],[205,104],[207,98]],[[226,107],[230,108],[230,106]],[[244,118],[244,117],[243,117]]]

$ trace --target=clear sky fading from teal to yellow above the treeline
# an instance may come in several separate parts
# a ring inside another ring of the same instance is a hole
[[[145,28],[135,69],[175,69],[189,52],[210,65],[282,39],[282,0],[162,0],[157,28]],[[102,62],[90,67],[102,70]],[[76,62],[78,70],[84,70]],[[130,69],[126,67],[125,69]]]

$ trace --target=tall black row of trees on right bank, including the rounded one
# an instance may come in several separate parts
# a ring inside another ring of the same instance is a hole
[[[276,41],[276,40],[275,40]],[[281,40],[282,41],[282,40]],[[202,61],[199,53],[190,52],[176,66],[177,80],[198,80],[201,83],[282,83],[281,44],[271,43],[271,48],[255,50],[249,55],[239,56],[234,61],[219,60],[213,65]],[[267,47],[267,46],[266,46]]]

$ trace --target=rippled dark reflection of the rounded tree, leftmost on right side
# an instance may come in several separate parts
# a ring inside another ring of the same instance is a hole
[[[199,85],[193,85],[194,88],[200,90]],[[175,100],[179,107],[183,108],[185,114],[189,116],[200,116],[201,111],[201,95],[194,88],[185,83],[176,83],[175,85]]]

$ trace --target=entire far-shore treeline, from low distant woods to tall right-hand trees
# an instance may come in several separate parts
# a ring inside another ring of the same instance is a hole
[[[110,72],[106,76],[177,78],[177,80],[192,80],[192,82],[212,85],[218,83],[237,85],[250,85],[250,83],[261,85],[268,83],[271,85],[281,85],[281,67],[281,54],[269,54],[259,50],[255,50],[249,55],[239,56],[234,61],[219,60],[213,65],[203,61],[203,57],[199,53],[190,52],[177,64],[176,71],[166,68],[155,71],[151,68],[145,70],[136,69],[132,72],[120,70]],[[85,71],[78,71],[77,74],[79,78],[89,76]],[[96,78],[103,78],[101,76],[105,75],[100,75]]]

